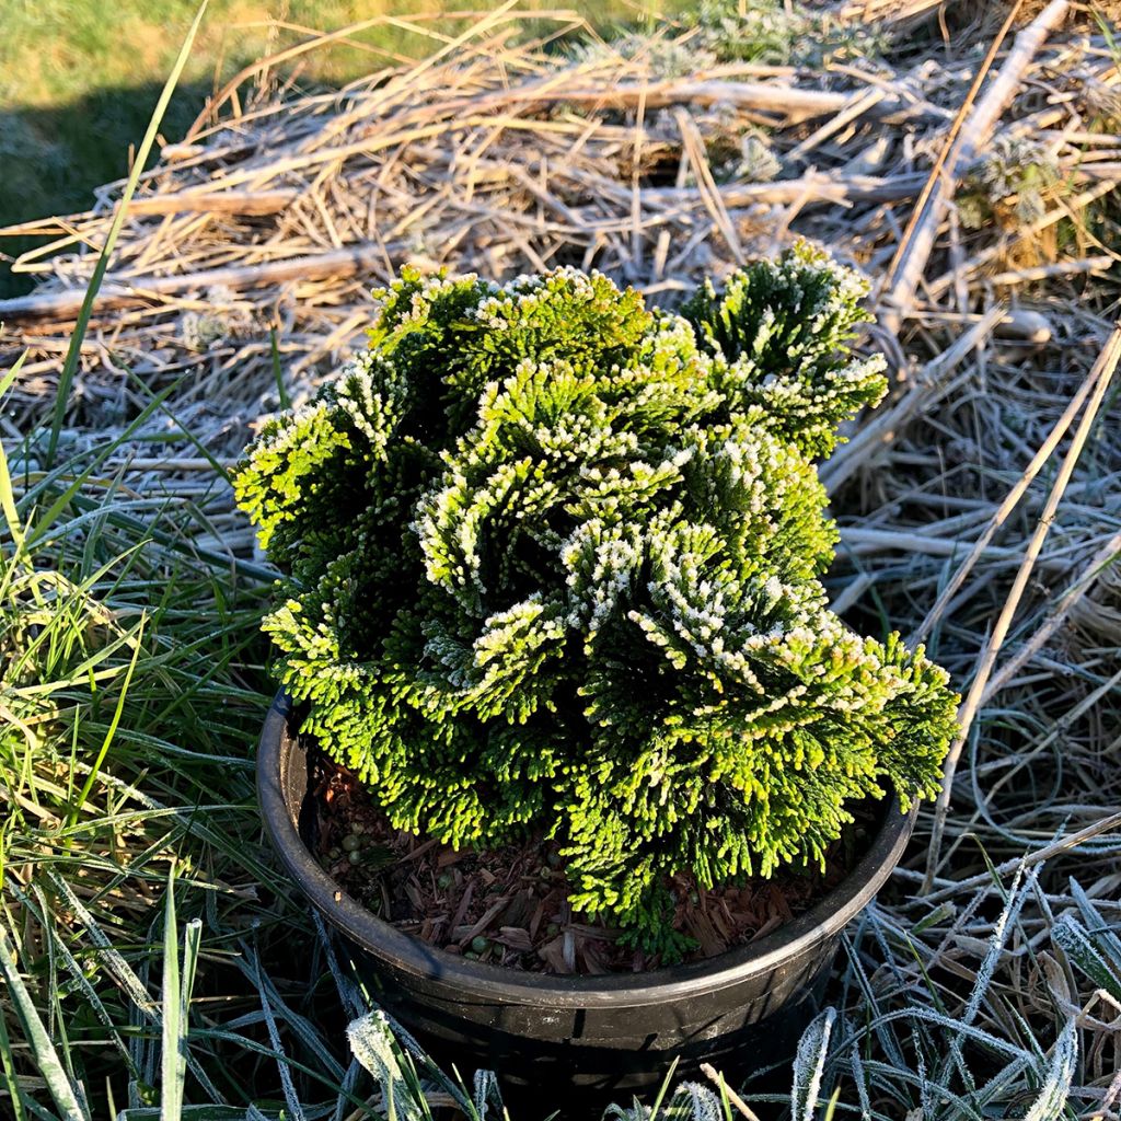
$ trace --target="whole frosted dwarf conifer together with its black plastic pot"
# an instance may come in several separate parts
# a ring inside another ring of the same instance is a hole
[[[946,674],[854,633],[819,582],[815,461],[886,389],[851,350],[864,295],[805,243],[679,314],[573,269],[405,269],[368,348],[247,452],[237,497],[284,573],[268,831],[461,1068],[640,1086],[673,1058],[784,1057],[936,790]],[[368,847],[433,861],[408,921],[333,871]],[[538,873],[536,914],[503,925]],[[706,954],[704,906],[782,877],[812,881],[800,911]],[[577,928],[613,966],[549,971]]]

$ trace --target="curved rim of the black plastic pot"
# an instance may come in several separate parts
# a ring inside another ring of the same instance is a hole
[[[293,703],[281,691],[265,719],[257,753],[257,794],[266,832],[281,863],[312,905],[339,930],[392,969],[437,980],[465,995],[488,1001],[555,1007],[632,1007],[704,995],[769,972],[834,937],[871,901],[902,855],[918,815],[904,813],[898,797],[887,809],[868,852],[849,874],[809,910],[747,945],[713,957],[667,965],[645,973],[557,975],[520,973],[501,965],[445,953],[398,930],[351,898],[318,864],[297,821],[299,806],[286,798],[285,778],[298,750],[289,730]],[[339,898],[336,898],[339,896]]]

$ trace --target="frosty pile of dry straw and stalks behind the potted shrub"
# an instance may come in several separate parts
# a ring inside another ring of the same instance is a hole
[[[143,177],[64,441],[104,439],[172,387],[102,471],[204,503],[194,545],[243,558],[209,456],[231,461],[277,408],[278,371],[298,400],[361,343],[368,291],[400,263],[594,266],[673,303],[795,235],[828,245],[872,279],[867,343],[896,374],[825,467],[843,526],[830,586],[856,626],[926,638],[967,695],[953,796],[879,912],[897,933],[928,919],[895,980],[920,962],[978,1030],[1009,1031],[992,1009],[1010,1009],[1046,1047],[1074,1022],[1072,1105],[1115,1118],[1121,981],[1066,944],[1094,908],[1121,917],[1118,58],[1065,0],[1007,35],[1002,12],[965,26],[952,6],[948,39],[924,8],[877,3],[882,53],[814,68],[721,61],[669,25],[562,49],[576,17],[527,43],[507,10],[337,92],[279,91],[262,64]],[[18,263],[40,282],[0,305],[0,367],[29,352],[6,439],[47,423],[119,189],[40,223],[57,240]],[[994,884],[1025,854],[1020,882],[1038,879],[989,942]]]

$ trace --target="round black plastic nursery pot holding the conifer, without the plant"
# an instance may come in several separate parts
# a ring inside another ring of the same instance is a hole
[[[308,757],[279,694],[257,759],[261,815],[287,871],[350,943],[370,991],[432,1056],[470,1078],[498,1073],[509,1104],[597,1115],[655,1090],[670,1064],[730,1080],[786,1063],[819,1009],[841,932],[891,874],[915,824],[884,803],[870,846],[819,902],[771,934],[648,973],[557,976],[465,960],[405,934],[350,898],[309,849]]]

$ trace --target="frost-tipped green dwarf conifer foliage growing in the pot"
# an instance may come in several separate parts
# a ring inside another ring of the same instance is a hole
[[[304,731],[396,827],[544,828],[574,907],[667,957],[670,873],[821,862],[854,800],[933,794],[945,673],[818,582],[813,457],[886,388],[850,352],[864,291],[805,244],[683,315],[574,269],[402,270],[235,478]]]

